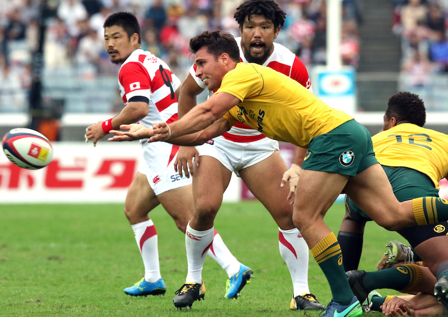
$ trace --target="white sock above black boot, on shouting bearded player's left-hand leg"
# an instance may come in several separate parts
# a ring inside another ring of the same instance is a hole
[[[202,284],[202,268],[207,251],[212,246],[214,227],[199,231],[187,224],[185,248],[187,249],[188,272],[186,282]]]

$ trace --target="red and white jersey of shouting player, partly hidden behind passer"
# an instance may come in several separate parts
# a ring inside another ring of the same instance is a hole
[[[239,59],[243,63],[248,63],[241,49],[241,37],[235,37],[236,43],[239,48]],[[274,43],[274,50],[269,58],[262,64],[262,66],[270,67],[277,72],[280,72],[288,77],[291,77],[305,88],[313,92],[311,87],[310,76],[308,75],[307,68],[296,54],[291,52],[285,46]],[[195,79],[199,87],[207,89],[207,86],[201,81],[199,77],[195,75],[195,65],[190,67],[190,74]],[[209,97],[213,95],[213,92],[208,91]],[[233,142],[253,142],[264,138],[265,136],[243,123],[236,123],[230,130],[223,134],[223,137]]]

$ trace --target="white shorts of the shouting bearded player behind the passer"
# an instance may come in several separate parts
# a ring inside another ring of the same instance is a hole
[[[233,142],[218,136],[196,146],[199,156],[216,158],[239,177],[239,170],[252,166],[278,151],[278,142],[268,137],[253,142]]]

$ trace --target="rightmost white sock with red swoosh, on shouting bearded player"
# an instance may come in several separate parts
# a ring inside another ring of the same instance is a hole
[[[308,287],[309,249],[299,229],[282,230],[278,228],[278,248],[288,266],[293,282],[294,297],[310,293]]]

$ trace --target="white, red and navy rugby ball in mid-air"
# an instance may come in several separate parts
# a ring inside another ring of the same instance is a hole
[[[15,165],[28,170],[37,170],[50,164],[53,147],[42,134],[28,128],[8,131],[2,140],[3,152]]]

